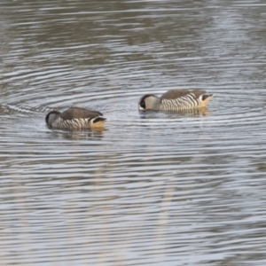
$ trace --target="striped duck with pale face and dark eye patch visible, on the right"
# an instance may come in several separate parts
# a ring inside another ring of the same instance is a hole
[[[146,94],[138,102],[139,111],[185,111],[207,106],[214,94],[206,90],[168,90],[160,96]]]

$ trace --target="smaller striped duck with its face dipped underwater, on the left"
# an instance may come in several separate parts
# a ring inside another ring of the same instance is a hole
[[[64,112],[51,111],[45,117],[46,124],[54,129],[100,129],[106,118],[103,113],[81,107],[70,107]]]

